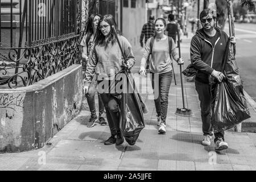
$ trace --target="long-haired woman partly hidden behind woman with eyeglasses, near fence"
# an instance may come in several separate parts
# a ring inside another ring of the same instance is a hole
[[[102,16],[100,14],[92,14],[89,16],[88,21],[86,22],[85,26],[85,34],[82,38],[80,45],[82,46],[82,58],[85,59],[85,62],[88,63],[90,51],[93,48],[93,40],[96,34],[96,30],[98,27],[98,21]],[[86,65],[83,63],[83,65]],[[85,67],[86,68],[86,67]],[[83,68],[84,69],[84,68]],[[93,80],[89,85],[88,92],[86,94],[87,102],[90,109],[90,119],[87,123],[87,127],[93,127],[97,119],[99,119],[100,125],[106,125],[105,118],[103,117],[104,114],[104,104],[100,94],[98,94],[98,115],[96,115],[96,104],[95,104],[95,94],[97,92],[97,75],[94,74]]]

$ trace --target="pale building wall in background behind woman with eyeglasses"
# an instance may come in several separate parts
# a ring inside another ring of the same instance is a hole
[[[137,1],[136,8],[131,8],[131,1],[129,1],[129,7],[123,7],[122,33],[133,47],[140,46],[139,38],[146,19],[145,2],[145,0]]]

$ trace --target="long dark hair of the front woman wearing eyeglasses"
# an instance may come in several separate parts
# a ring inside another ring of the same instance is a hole
[[[105,35],[103,35],[100,30],[100,23],[103,21],[109,23],[109,25],[110,25],[110,32],[108,35],[108,40],[110,42],[112,42],[112,44],[115,42],[114,30],[113,30],[112,26],[114,26],[115,30],[117,30],[117,24],[115,23],[115,19],[112,15],[105,15],[98,22],[98,28],[96,31],[95,42],[94,42],[95,45],[100,45],[100,44],[104,43],[104,41],[105,41]],[[117,34],[121,35],[121,33],[119,31],[117,31]]]

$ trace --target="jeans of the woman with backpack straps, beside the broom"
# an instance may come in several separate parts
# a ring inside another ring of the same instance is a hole
[[[151,83],[154,90],[155,109],[162,122],[166,124],[168,110],[168,96],[172,82],[172,71],[167,73],[152,73]]]

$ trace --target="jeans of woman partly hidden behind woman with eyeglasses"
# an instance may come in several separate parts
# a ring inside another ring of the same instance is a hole
[[[95,94],[97,92],[96,86],[97,86],[97,76],[94,75],[92,82],[89,85],[88,93],[86,94],[87,102],[89,105],[90,113],[92,115],[96,115],[96,104],[95,104]],[[99,118],[102,117],[102,114],[104,113],[104,103],[102,101],[101,95],[98,94],[98,115]]]

